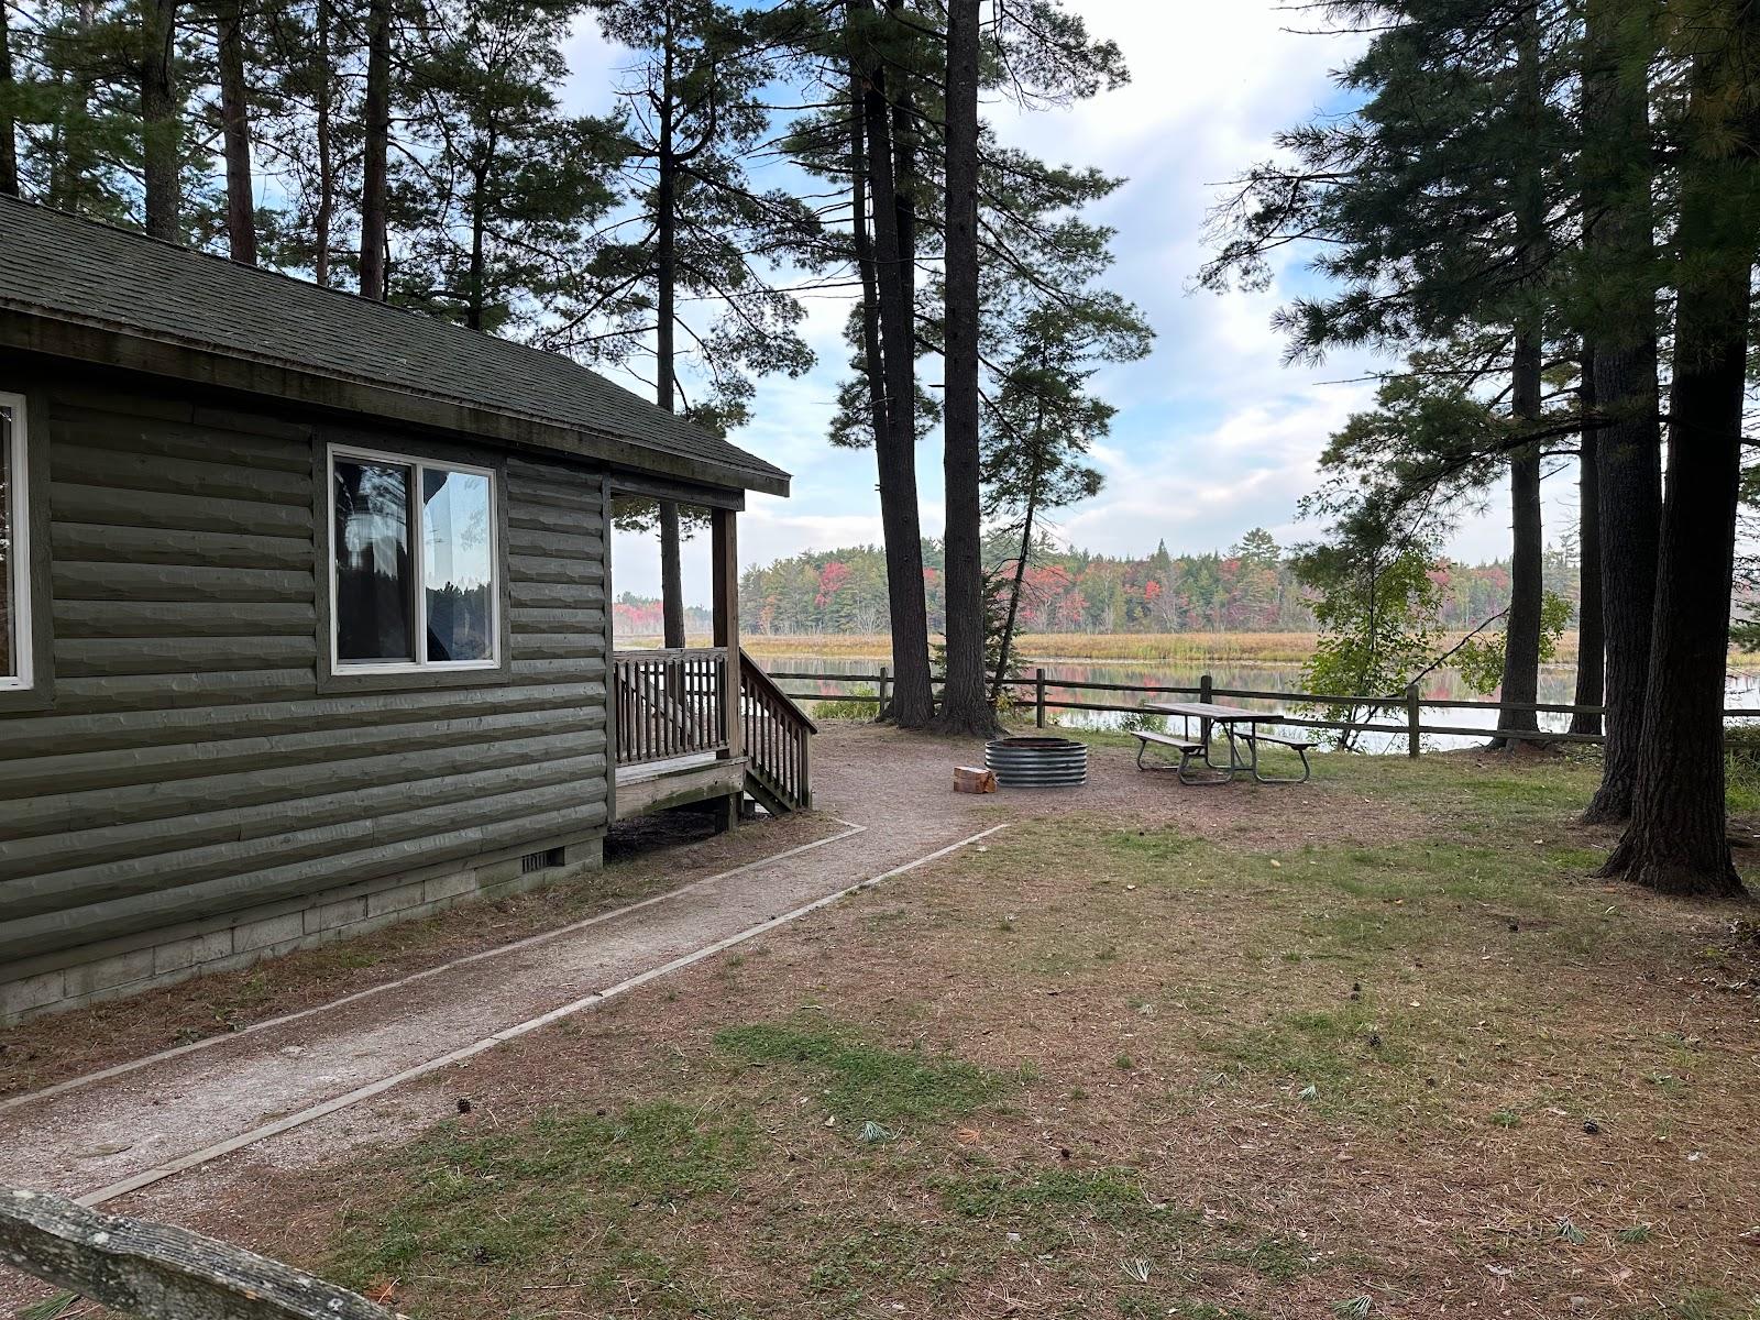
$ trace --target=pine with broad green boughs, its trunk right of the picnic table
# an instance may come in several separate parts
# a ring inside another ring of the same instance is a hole
[[[1253,171],[1220,209],[1220,252],[1204,280],[1262,282],[1269,253],[1324,239],[1313,266],[1341,289],[1281,313],[1294,356],[1450,345],[1447,359],[1415,359],[1447,363],[1445,392],[1492,371],[1508,380],[1487,398],[1514,426],[1480,433],[1494,438],[1508,472],[1514,532],[1500,727],[1531,732],[1544,609],[1538,442],[1556,429],[1544,408],[1547,350],[1558,343],[1551,285],[1575,202],[1570,5],[1394,0],[1332,9],[1375,32],[1341,76],[1368,99],[1352,116],[1283,136],[1297,169]],[[1461,361],[1468,345],[1477,361]],[[1456,470],[1470,468],[1491,479],[1492,468],[1471,461]],[[1404,493],[1420,505],[1427,495]]]

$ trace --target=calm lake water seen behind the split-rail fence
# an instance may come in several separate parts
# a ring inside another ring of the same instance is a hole
[[[875,693],[875,685],[869,681],[859,681],[855,676],[873,676],[878,671],[876,660],[827,660],[822,656],[766,656],[760,664],[774,672],[790,674],[811,674],[811,678],[799,679],[781,679],[781,686],[801,699],[803,702],[811,702],[818,697],[831,695],[852,695],[861,693],[871,697]],[[1216,688],[1237,688],[1248,692],[1301,692],[1302,690],[1302,671],[1301,665],[1271,665],[1271,664],[1227,664],[1221,660],[1213,660],[1202,665],[1181,665],[1176,662],[1167,662],[1165,665],[1156,665],[1153,662],[1093,662],[1093,660],[1070,660],[1070,662],[1047,662],[1044,665],[1047,700],[1075,700],[1088,704],[1104,706],[1135,706],[1139,700],[1151,699],[1151,693],[1140,692],[1144,686],[1190,686],[1199,685],[1202,674],[1209,674]],[[1031,676],[1031,667],[1026,671]],[[1068,692],[1058,690],[1058,683],[1116,683],[1125,688],[1133,688],[1130,692]],[[1540,671],[1540,702],[1542,704],[1568,704],[1575,695],[1577,674],[1572,665],[1547,665]],[[1728,697],[1727,706],[1730,709],[1751,709],[1760,716],[1760,674],[1756,672],[1732,672],[1728,678]],[[1010,727],[1030,725],[1033,722],[1031,708],[1031,688],[1016,688],[1023,706],[1014,711],[1005,723]],[[1438,671],[1424,679],[1424,697],[1427,700],[1484,700],[1477,692],[1466,688],[1461,676],[1448,671]],[[1158,700],[1197,700],[1195,695],[1162,695]],[[1248,697],[1218,697],[1230,706],[1244,706],[1248,709],[1262,711],[1288,711],[1290,704],[1272,699],[1248,699]],[[836,709],[850,711],[848,706],[827,706],[825,715]],[[1116,711],[1058,711],[1052,709],[1060,723],[1077,729],[1119,729],[1130,716]],[[1496,729],[1496,711],[1494,709],[1424,709],[1426,725],[1450,725],[1461,729]],[[1563,732],[1570,725],[1568,715],[1542,713],[1540,727]],[[1382,711],[1375,716],[1376,723],[1397,723],[1403,725],[1406,720],[1404,706],[1399,704],[1390,711]],[[1322,730],[1315,730],[1322,732]],[[1475,746],[1484,739],[1471,734],[1426,734],[1424,746],[1434,748],[1438,752]],[[1406,736],[1404,734],[1364,734],[1359,743],[1362,752],[1404,752]]]

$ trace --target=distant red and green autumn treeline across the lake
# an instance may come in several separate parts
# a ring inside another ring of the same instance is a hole
[[[926,540],[924,591],[929,627],[947,614],[940,544]],[[993,561],[998,590],[1014,565]],[[1466,630],[1508,605],[1507,563],[1448,563],[1434,568],[1441,586],[1440,623]],[[1547,551],[1545,586],[1575,600],[1577,567],[1568,549]],[[885,553],[852,546],[776,560],[739,579],[739,616],[752,634],[885,632]],[[1035,551],[1023,581],[1023,632],[1311,632],[1308,593],[1290,560],[1265,532],[1250,532],[1230,551],[1169,554],[1167,544],[1140,560],[1086,551]]]

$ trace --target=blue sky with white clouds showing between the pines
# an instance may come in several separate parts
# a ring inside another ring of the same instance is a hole
[[[1360,357],[1283,364],[1271,315],[1309,287],[1299,253],[1265,290],[1218,296],[1195,290],[1193,276],[1206,257],[1204,218],[1221,185],[1265,158],[1276,130],[1336,107],[1329,74],[1348,60],[1352,39],[1294,30],[1302,14],[1280,0],[1065,4],[1093,35],[1119,44],[1132,83],[1068,109],[1023,114],[989,102],[982,113],[1010,144],[1128,180],[1086,215],[1118,231],[1109,283],[1142,308],[1156,341],[1144,361],[1096,378],[1119,410],[1112,435],[1091,454],[1105,488],[1061,510],[1054,532],[1070,546],[1118,556],[1149,554],[1162,540],[1174,554],[1225,551],[1255,526],[1285,546],[1311,539],[1320,528],[1297,521],[1297,502],[1316,486],[1327,436],[1373,401],[1373,384],[1362,380],[1373,364]],[[568,56],[568,107],[609,109],[630,55],[588,23]],[[882,539],[873,454],[825,442],[848,357],[845,312],[840,299],[808,304],[803,333],[818,366],[799,380],[760,382],[752,424],[732,436],[794,473],[790,498],[750,496],[739,519],[746,567]],[[917,451],[926,535],[942,533],[940,466],[935,436]],[[1547,482],[1549,539],[1572,516],[1568,484]],[[1463,560],[1507,554],[1507,528],[1496,512],[1473,517],[1448,551]],[[616,591],[658,593],[651,544],[620,537],[612,563]],[[708,600],[704,546],[686,546],[685,597]]]

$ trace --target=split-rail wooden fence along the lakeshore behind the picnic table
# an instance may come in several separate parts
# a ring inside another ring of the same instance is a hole
[[[887,665],[880,665],[873,672],[861,674],[808,674],[801,671],[780,671],[773,669],[771,678],[785,683],[868,683],[873,685],[873,692],[790,692],[788,695],[796,700],[822,700],[822,702],[875,702],[878,700],[884,708],[892,686],[892,671]],[[940,686],[943,683],[942,676],[933,676],[933,683]],[[1195,700],[1267,700],[1278,706],[1343,706],[1355,708],[1362,715],[1355,720],[1329,720],[1318,715],[1290,715],[1285,711],[1267,713],[1276,716],[1276,723],[1292,725],[1299,729],[1331,729],[1338,732],[1355,732],[1355,734],[1387,734],[1390,737],[1404,737],[1408,755],[1419,755],[1422,750],[1420,743],[1426,736],[1438,737],[1501,737],[1508,741],[1524,743],[1602,743],[1605,734],[1573,734],[1566,730],[1549,732],[1533,729],[1480,729],[1473,725],[1461,723],[1424,723],[1424,711],[1533,711],[1536,715],[1605,715],[1603,706],[1572,706],[1566,702],[1501,702],[1501,700],[1468,700],[1463,697],[1426,697],[1417,685],[1406,688],[1397,695],[1387,697],[1336,697],[1324,692],[1269,692],[1264,688],[1221,688],[1216,686],[1209,674],[1204,674],[1197,686],[1179,686],[1179,685],[1160,685],[1160,683],[1098,683],[1098,681],[1079,681],[1079,679],[1060,679],[1051,678],[1044,669],[1035,669],[1031,674],[1023,678],[1014,678],[1003,683],[1021,697],[1021,708],[1030,708],[1033,711],[1033,722],[1044,729],[1049,711],[1089,711],[1096,715],[1144,715],[1140,702],[1125,704],[1119,700],[1068,700],[1063,697],[1052,697],[1051,693],[1070,693],[1081,697],[1084,693],[1135,693],[1144,700],[1155,699],[1177,699],[1190,697]],[[1397,713],[1399,722],[1385,718],[1387,715]],[[1744,709],[1727,709],[1725,718],[1760,718],[1760,711]],[[1267,723],[1271,720],[1267,718]]]

